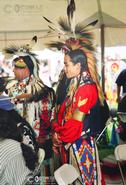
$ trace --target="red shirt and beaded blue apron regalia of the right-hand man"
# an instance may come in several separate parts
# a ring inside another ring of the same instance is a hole
[[[72,89],[73,82],[70,83],[69,92]],[[97,99],[96,85],[90,78],[82,77],[72,102],[70,103],[70,96],[67,96],[58,112],[58,121],[53,125],[54,131],[59,134],[59,139],[63,142],[62,161],[78,168],[83,185],[97,184],[95,144],[90,132],[85,130],[84,121],[73,119],[72,114],[75,110],[85,115],[89,114]]]

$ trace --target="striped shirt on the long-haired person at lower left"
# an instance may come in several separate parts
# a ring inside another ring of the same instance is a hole
[[[20,143],[12,139],[0,140],[0,164],[0,184],[23,184],[30,173],[25,165]]]

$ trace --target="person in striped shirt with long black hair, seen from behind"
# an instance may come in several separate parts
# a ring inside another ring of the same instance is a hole
[[[0,184],[22,185],[32,179],[37,153],[23,143],[21,129],[8,111],[0,109]],[[30,182],[31,183],[31,182]]]

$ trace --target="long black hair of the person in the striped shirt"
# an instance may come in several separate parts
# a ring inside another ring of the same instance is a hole
[[[35,152],[30,146],[25,145],[22,143],[23,141],[23,134],[20,127],[18,127],[19,118],[18,114],[17,117],[15,116],[15,119],[12,115],[14,115],[13,111],[7,111],[0,109],[0,138],[1,139],[13,139],[15,141],[20,142],[22,154],[25,159],[26,166],[30,170],[34,170],[36,167],[36,164],[38,162],[38,153]],[[21,119],[20,119],[21,121]]]

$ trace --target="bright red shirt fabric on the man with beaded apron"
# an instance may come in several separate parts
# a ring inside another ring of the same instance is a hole
[[[75,93],[73,104],[71,104],[72,107],[69,110],[74,111],[79,109],[81,112],[87,114],[96,103],[97,98],[98,93],[95,84],[82,85]],[[80,137],[83,130],[83,122],[72,119],[73,112],[67,111],[64,115],[66,101],[61,105],[58,113],[58,122],[53,124],[53,129],[59,133],[61,141],[72,143]],[[65,122],[64,125],[62,125],[63,122]]]

